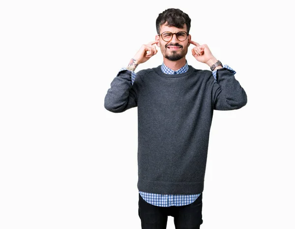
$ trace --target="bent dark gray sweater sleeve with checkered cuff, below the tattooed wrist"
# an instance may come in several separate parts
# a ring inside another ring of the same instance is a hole
[[[108,89],[104,99],[104,107],[108,111],[121,113],[137,106],[135,76],[134,72],[126,68],[122,67],[119,70],[117,76],[111,82],[111,87]]]

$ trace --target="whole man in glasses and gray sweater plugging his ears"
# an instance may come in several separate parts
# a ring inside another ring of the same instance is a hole
[[[191,19],[170,8],[156,19],[155,40],[142,45],[121,68],[105,97],[105,108],[119,113],[138,107],[138,189],[142,229],[166,229],[168,216],[176,229],[199,229],[202,193],[213,110],[234,110],[247,95],[234,71],[222,65],[207,44],[189,34]],[[187,64],[192,55],[211,71]],[[134,72],[157,53],[163,63]]]

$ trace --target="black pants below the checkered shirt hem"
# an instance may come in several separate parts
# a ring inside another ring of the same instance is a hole
[[[200,229],[202,220],[203,193],[191,204],[159,207],[148,203],[139,194],[138,215],[142,229],[166,229],[168,216],[174,217],[176,229]]]

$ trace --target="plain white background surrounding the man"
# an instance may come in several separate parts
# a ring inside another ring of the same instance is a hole
[[[236,70],[248,103],[214,111],[201,229],[294,229],[294,18],[286,1],[0,3],[0,228],[140,229],[137,108],[110,83],[167,8]],[[209,67],[191,56],[199,69]],[[158,53],[140,69],[162,64]],[[168,218],[167,229],[174,229]]]

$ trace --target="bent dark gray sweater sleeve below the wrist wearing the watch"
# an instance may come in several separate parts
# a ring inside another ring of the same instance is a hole
[[[223,67],[216,70],[216,80],[212,88],[214,110],[236,110],[246,105],[246,92],[236,80],[235,73],[232,68]]]

